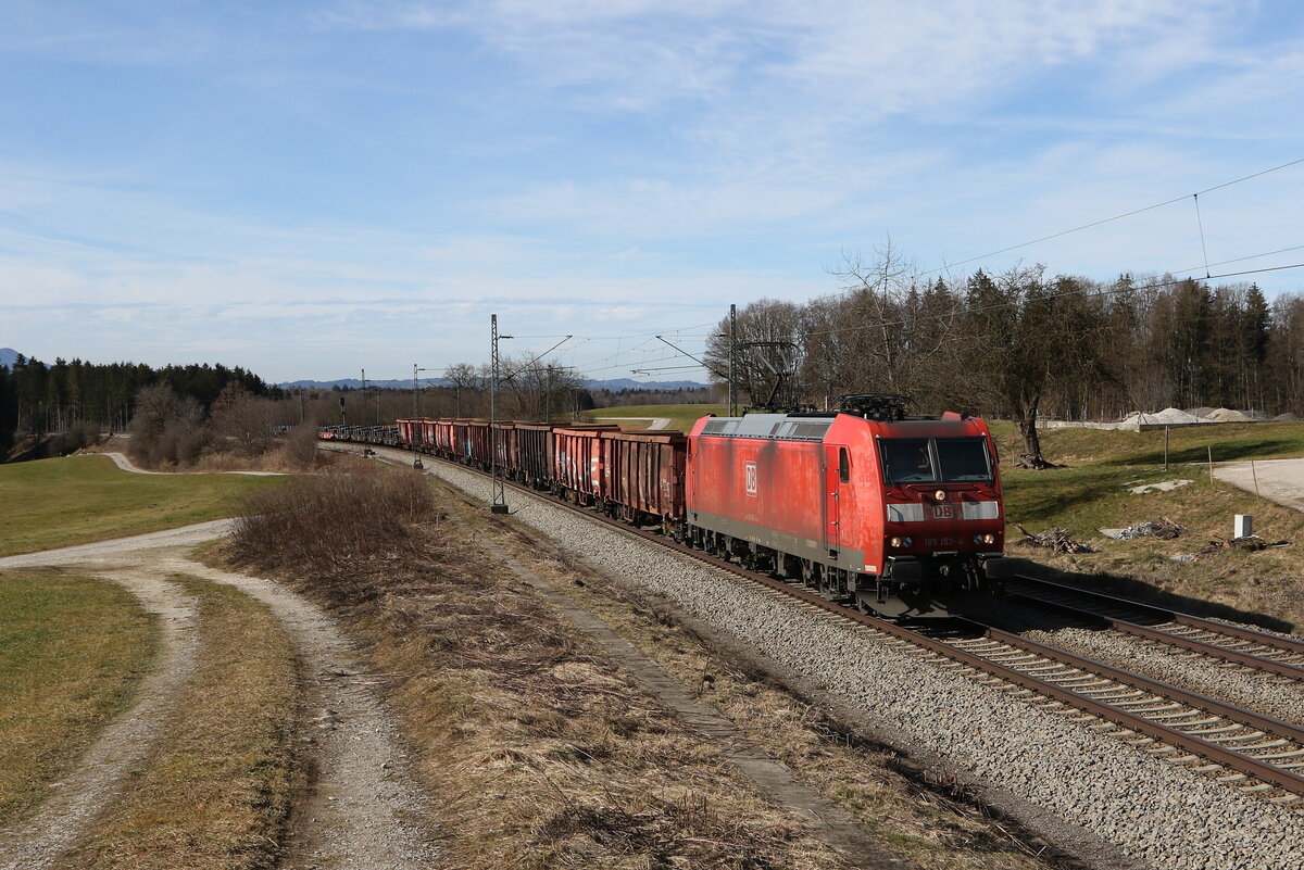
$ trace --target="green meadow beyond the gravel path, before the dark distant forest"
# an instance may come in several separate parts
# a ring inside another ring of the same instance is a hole
[[[216,520],[275,479],[130,474],[107,456],[0,465],[0,556]]]

